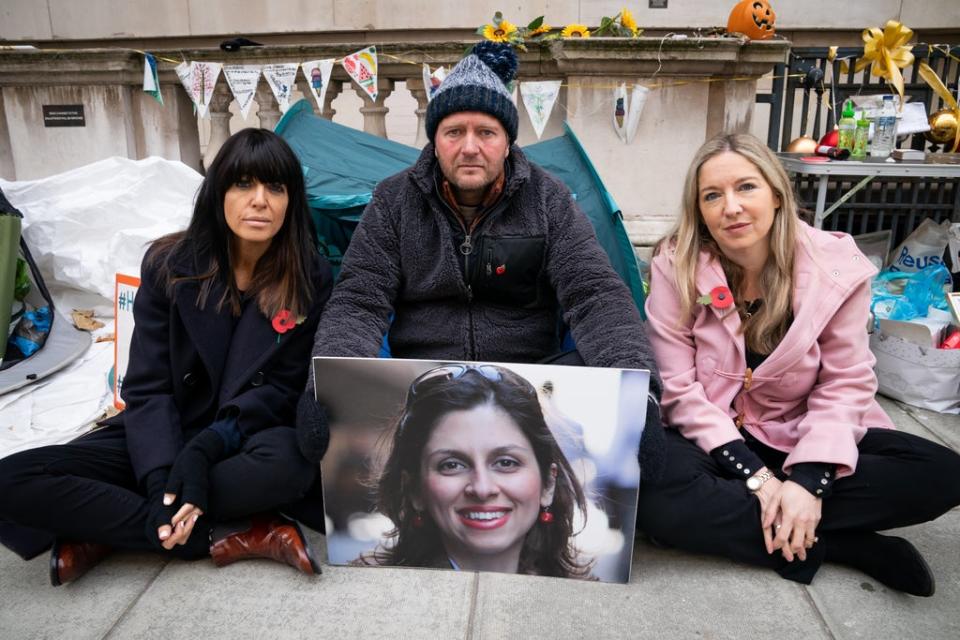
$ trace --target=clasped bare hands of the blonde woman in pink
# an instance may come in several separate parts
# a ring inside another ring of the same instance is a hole
[[[823,501],[796,482],[777,478],[764,482],[755,495],[760,500],[760,526],[767,553],[779,549],[787,562],[806,560],[807,549],[817,542]]]

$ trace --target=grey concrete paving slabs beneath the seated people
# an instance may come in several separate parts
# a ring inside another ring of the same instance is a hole
[[[960,417],[881,403],[900,429],[960,450]],[[932,598],[834,565],[804,587],[643,540],[628,585],[326,565],[308,578],[268,561],[116,554],[52,588],[47,555],[4,549],[0,638],[960,638],[960,509],[901,533],[934,568]]]

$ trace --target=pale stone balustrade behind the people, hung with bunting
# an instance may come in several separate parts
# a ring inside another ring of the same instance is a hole
[[[387,136],[387,98],[405,87],[417,118],[416,144],[426,142],[426,92],[421,64],[448,68],[469,42],[378,44],[376,102],[335,65],[321,117],[335,118],[333,102],[356,92],[363,129]],[[142,89],[143,56],[131,50],[0,51],[0,177],[38,178],[107,156],[160,155],[198,170],[208,164],[231,132],[233,96],[221,74],[209,105],[209,122],[198,128],[193,105],[180,86],[173,60],[225,64],[271,64],[343,58],[367,45],[296,45],[152,51],[158,61],[164,104]],[[544,137],[561,132],[566,119],[590,154],[624,217],[633,240],[649,244],[673,219],[679,185],[693,152],[721,131],[748,131],[757,79],[782,62],[786,41],[741,42],[730,38],[565,39],[520,52],[519,79],[562,80],[558,104]],[[611,126],[613,88],[620,82],[651,87],[637,138],[625,145]],[[309,95],[298,72],[297,86]],[[399,97],[399,96],[398,96]],[[412,98],[412,100],[411,100]],[[312,98],[311,98],[312,99]],[[273,128],[279,105],[261,77],[255,93],[259,126]],[[82,128],[44,126],[43,105],[82,104]],[[536,140],[522,104],[521,144]],[[235,109],[234,109],[235,110]],[[204,140],[200,131],[209,131]],[[201,150],[202,157],[201,157]]]

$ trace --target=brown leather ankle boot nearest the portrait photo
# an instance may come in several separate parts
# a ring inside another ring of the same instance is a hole
[[[279,514],[253,516],[239,530],[223,532],[221,527],[215,528],[210,556],[218,567],[248,558],[269,558],[308,576],[320,573],[299,525]]]

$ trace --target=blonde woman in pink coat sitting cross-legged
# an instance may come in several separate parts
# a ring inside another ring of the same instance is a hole
[[[920,552],[876,532],[960,503],[960,456],[895,431],[874,399],[874,274],[849,236],[799,219],[762,142],[700,148],[646,307],[671,427],[666,475],[641,487],[654,540],[804,584],[831,561],[933,594]]]

